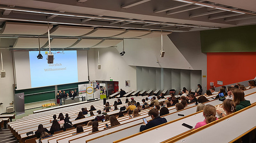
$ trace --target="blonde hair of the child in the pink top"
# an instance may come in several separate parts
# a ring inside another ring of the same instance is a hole
[[[210,123],[216,120],[216,109],[214,106],[208,104],[203,107],[203,113],[206,123]]]

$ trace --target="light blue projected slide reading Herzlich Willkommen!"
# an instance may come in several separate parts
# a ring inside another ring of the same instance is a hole
[[[76,51],[51,52],[53,64],[47,63],[48,51],[41,51],[43,59],[37,59],[38,51],[29,52],[32,88],[78,82]]]

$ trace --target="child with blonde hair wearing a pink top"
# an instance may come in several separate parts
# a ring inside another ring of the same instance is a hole
[[[216,115],[215,107],[210,104],[205,105],[203,108],[203,116],[205,117],[205,119],[202,122],[196,123],[195,129],[199,128],[201,126],[205,126],[206,124],[208,124],[210,122],[218,120],[218,118],[215,117],[215,115]]]

